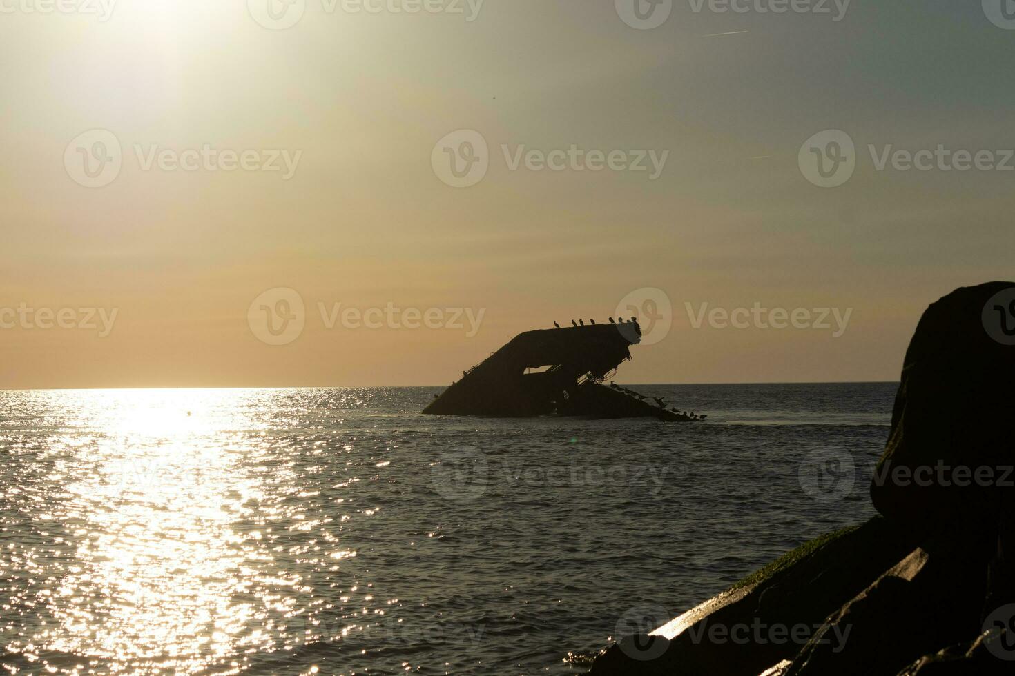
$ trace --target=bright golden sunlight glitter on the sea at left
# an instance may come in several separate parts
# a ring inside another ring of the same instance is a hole
[[[4,572],[30,576],[33,584],[13,601],[22,612],[40,611],[35,626],[7,640],[9,651],[108,658],[124,673],[131,665],[147,673],[153,664],[194,673],[307,640],[303,619],[292,621],[313,607],[299,598],[312,590],[298,571],[336,572],[353,552],[319,532],[321,515],[289,500],[299,493],[296,475],[291,462],[279,461],[277,444],[271,454],[260,447],[270,395],[143,390],[46,398],[73,432],[33,449],[52,465],[46,478],[64,479],[59,500],[39,491],[57,484],[40,485],[38,476],[5,496],[5,509],[18,498],[31,501],[39,528]],[[22,453],[25,446],[33,444]],[[54,559],[43,544],[49,538],[73,551],[72,565]],[[303,635],[286,631],[295,624]]]

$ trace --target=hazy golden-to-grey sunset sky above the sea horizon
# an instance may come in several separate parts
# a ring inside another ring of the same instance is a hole
[[[0,0],[0,388],[441,385],[621,314],[620,382],[888,381],[1015,278],[1011,3],[634,2]]]

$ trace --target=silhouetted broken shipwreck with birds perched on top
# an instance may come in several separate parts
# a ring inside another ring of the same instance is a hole
[[[463,373],[424,414],[529,418],[656,418],[690,423],[706,417],[667,408],[660,398],[603,382],[631,358],[637,321],[527,331]],[[573,323],[573,322],[572,322]]]

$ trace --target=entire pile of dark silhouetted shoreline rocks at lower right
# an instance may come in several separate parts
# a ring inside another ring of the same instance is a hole
[[[1015,283],[932,304],[871,484],[884,518],[809,542],[652,635],[621,640],[591,673],[1015,674],[1013,379]],[[756,624],[815,630],[799,643],[725,637]]]

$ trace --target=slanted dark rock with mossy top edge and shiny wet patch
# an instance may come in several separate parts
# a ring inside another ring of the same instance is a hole
[[[623,637],[590,673],[757,676],[915,546],[881,518],[817,538],[660,627],[668,644]]]

